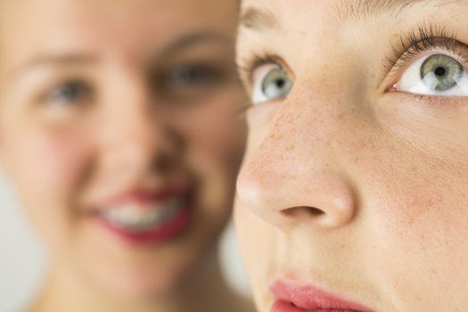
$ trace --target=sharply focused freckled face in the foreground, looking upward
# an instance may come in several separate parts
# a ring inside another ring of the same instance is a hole
[[[464,0],[243,1],[235,221],[260,311],[466,310],[466,16]]]

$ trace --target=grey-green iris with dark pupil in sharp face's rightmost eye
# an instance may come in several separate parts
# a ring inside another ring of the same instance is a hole
[[[463,73],[462,64],[443,54],[430,56],[421,66],[424,84],[435,91],[447,91],[456,86]]]

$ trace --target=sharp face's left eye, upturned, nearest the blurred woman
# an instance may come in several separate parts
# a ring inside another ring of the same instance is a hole
[[[251,102],[265,103],[286,97],[293,86],[288,72],[275,64],[261,66],[254,73]]]

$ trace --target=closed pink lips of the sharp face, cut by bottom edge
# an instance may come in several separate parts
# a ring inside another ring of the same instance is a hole
[[[277,298],[271,312],[372,312],[361,304],[343,300],[339,295],[313,285],[278,280],[271,285],[270,291]]]

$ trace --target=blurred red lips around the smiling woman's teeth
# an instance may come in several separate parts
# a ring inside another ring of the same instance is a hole
[[[111,209],[109,207],[113,205],[132,202],[141,204],[142,207],[144,207],[148,204],[157,204],[158,202],[166,201],[174,196],[185,197],[185,208],[181,209],[177,215],[168,220],[167,223],[155,228],[142,231],[128,230],[112,225],[103,218],[101,214],[103,209]],[[182,234],[182,232],[185,232],[186,228],[190,226],[193,217],[193,194],[189,187],[181,185],[173,185],[154,191],[135,190],[113,196],[110,200],[103,201],[102,204],[96,207],[98,208],[94,209],[92,217],[98,221],[97,224],[103,226],[104,229],[116,235],[119,239],[137,244],[160,243],[166,242],[178,234]]]

